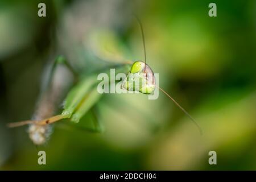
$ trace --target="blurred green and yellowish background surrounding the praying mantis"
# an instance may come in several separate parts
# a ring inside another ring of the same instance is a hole
[[[46,17],[38,17],[39,2],[46,3]],[[210,2],[217,17],[208,16]],[[147,63],[159,85],[196,119],[203,136],[162,93],[158,100],[105,94],[96,104],[103,133],[59,122],[38,149],[26,127],[6,127],[32,117],[43,72],[57,54],[80,73],[98,67],[83,59],[100,52],[90,44],[92,32],[108,30],[119,42],[115,55],[126,49],[127,59],[143,60],[132,14],[143,23]],[[254,0],[1,1],[0,169],[255,170],[255,32]],[[46,151],[47,165],[38,165],[38,150]],[[208,164],[211,150],[217,165]]]

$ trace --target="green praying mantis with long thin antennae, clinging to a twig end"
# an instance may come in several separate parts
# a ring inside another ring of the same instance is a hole
[[[170,100],[172,100],[198,127],[200,133],[202,130],[196,121],[188,114],[188,112],[183,109],[175,100],[155,84],[154,72],[151,67],[146,63],[146,46],[144,40],[144,32],[141,20],[135,17],[138,20],[139,27],[141,28],[142,39],[143,39],[143,50],[144,50],[144,61],[130,61],[126,60],[123,63],[110,65],[109,68],[115,67],[115,71],[122,73],[127,72],[129,69],[129,74],[126,79],[122,82],[122,88],[126,90],[138,91],[142,94],[151,94],[155,89],[161,90]],[[49,76],[49,83],[51,78],[54,75],[55,68],[59,64],[64,64],[66,67],[73,71],[72,66],[65,59],[64,56],[58,56],[52,66],[52,71]],[[108,72],[109,68],[105,68],[103,71]],[[71,122],[78,123],[81,118],[92,109],[93,105],[100,100],[101,95],[97,91],[97,74],[98,72],[92,73],[90,75],[81,76],[77,80],[77,83],[69,90],[67,97],[64,101],[63,111],[60,114],[54,115],[53,117],[37,119],[37,120],[28,120],[9,123],[8,127],[19,127],[28,125],[28,134],[32,142],[36,145],[42,145],[46,143],[47,138],[51,134],[51,124],[63,119],[69,119]],[[134,86],[135,82],[139,82],[138,86]]]

